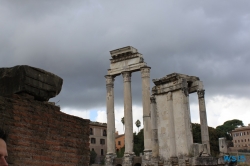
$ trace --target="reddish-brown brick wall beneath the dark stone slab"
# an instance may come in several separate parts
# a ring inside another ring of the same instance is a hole
[[[89,120],[27,94],[0,96],[0,127],[13,166],[88,166]]]

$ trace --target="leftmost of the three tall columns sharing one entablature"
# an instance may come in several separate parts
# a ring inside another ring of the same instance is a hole
[[[107,104],[107,155],[106,166],[113,164],[115,153],[115,113],[114,113],[114,77],[106,75]]]

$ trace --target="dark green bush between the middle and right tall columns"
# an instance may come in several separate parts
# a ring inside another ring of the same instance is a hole
[[[134,152],[136,156],[140,156],[140,153],[143,153],[144,150],[144,134],[143,129],[140,130],[137,134],[134,133]]]

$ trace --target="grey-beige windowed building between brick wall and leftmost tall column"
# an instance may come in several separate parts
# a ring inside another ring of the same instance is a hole
[[[107,153],[107,123],[90,122],[89,130],[89,148],[96,152],[96,163],[100,163]]]

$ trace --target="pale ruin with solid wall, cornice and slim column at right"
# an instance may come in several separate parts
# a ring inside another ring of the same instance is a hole
[[[216,165],[210,156],[209,134],[205,107],[205,90],[198,77],[179,73],[153,79],[151,121],[153,156],[166,165]],[[197,92],[202,144],[193,143],[189,94]],[[192,157],[191,157],[192,156]],[[201,160],[202,159],[202,160]],[[155,164],[157,165],[157,164]]]

